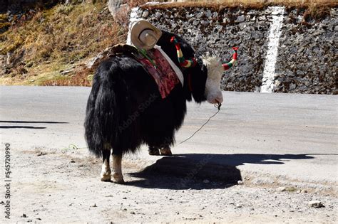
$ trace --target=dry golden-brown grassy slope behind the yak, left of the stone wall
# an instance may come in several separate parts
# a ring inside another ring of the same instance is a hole
[[[57,5],[11,26],[0,38],[2,54],[13,53],[1,85],[90,85],[89,58],[126,40],[106,4]],[[73,68],[61,75],[61,70]],[[49,80],[49,81],[48,81]]]

